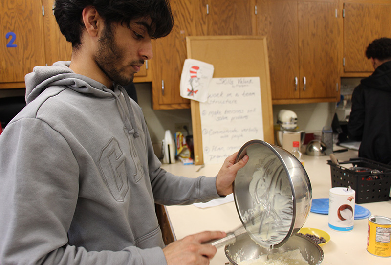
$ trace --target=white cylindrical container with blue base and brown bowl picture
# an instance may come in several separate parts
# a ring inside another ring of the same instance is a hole
[[[350,188],[331,188],[328,197],[328,226],[341,232],[353,230],[354,197],[356,192]]]

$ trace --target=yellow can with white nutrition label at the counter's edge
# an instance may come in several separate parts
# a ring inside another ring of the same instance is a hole
[[[367,251],[379,257],[391,256],[391,218],[372,215],[368,219]]]

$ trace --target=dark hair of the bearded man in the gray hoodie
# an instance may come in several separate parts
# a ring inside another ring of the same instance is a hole
[[[173,14],[168,0],[56,0],[54,16],[66,40],[72,47],[80,47],[83,28],[82,11],[93,6],[110,28],[111,22],[130,25],[134,19],[152,19],[152,39],[167,36],[174,25]]]

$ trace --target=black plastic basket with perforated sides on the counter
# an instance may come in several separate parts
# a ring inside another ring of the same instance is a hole
[[[366,158],[351,158],[334,164],[327,160],[331,170],[331,187],[350,186],[356,192],[356,203],[385,201],[389,199],[391,185],[391,166]],[[356,172],[351,166],[369,168],[372,171]],[[376,170],[376,171],[375,171]]]

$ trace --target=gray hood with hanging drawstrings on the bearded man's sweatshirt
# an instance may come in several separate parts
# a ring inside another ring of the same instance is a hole
[[[138,137],[139,133],[133,109],[125,89],[119,85],[114,85],[114,89],[111,90],[91,78],[76,74],[69,66],[70,61],[59,61],[52,66],[34,67],[33,72],[27,74],[24,78],[26,84],[26,103],[29,104],[36,99],[43,90],[50,86],[65,86],[68,89],[85,94],[86,96],[99,98],[114,97],[128,133],[133,134],[134,137]],[[126,106],[124,106],[119,99],[121,93],[124,95]],[[126,115],[126,111],[129,113],[129,118]]]

